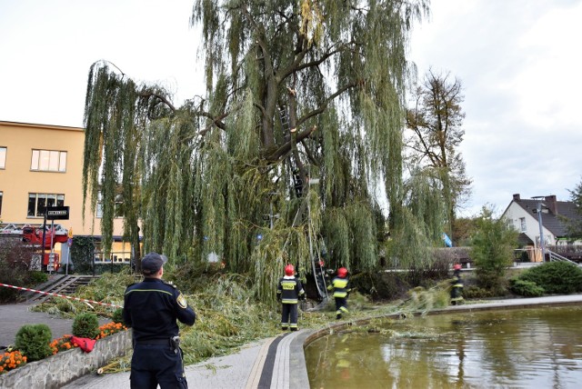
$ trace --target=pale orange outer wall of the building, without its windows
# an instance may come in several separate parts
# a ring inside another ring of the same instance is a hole
[[[43,217],[27,214],[29,194],[64,194],[69,220],[57,220],[55,224],[72,228],[74,235],[100,236],[101,220],[95,217],[88,204],[83,221],[84,143],[83,128],[0,121],[0,147],[6,148],[5,167],[0,168],[2,222],[42,224]],[[33,150],[65,151],[65,171],[32,170]],[[116,219],[114,223],[114,234],[123,234],[123,219]],[[114,247],[114,251],[119,249]],[[130,249],[125,247],[125,251],[130,252]]]

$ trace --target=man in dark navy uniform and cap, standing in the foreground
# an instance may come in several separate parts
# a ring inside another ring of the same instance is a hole
[[[178,325],[192,325],[196,313],[176,285],[162,280],[166,255],[149,253],[142,259],[144,281],[125,290],[124,322],[132,327],[132,389],[187,388]]]

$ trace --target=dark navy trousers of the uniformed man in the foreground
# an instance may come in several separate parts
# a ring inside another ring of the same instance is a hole
[[[135,344],[131,358],[132,389],[187,389],[182,350],[168,344]]]

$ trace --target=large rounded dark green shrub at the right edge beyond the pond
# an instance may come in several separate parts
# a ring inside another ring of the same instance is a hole
[[[544,288],[547,294],[582,292],[582,269],[568,262],[547,262],[527,269],[518,277]]]

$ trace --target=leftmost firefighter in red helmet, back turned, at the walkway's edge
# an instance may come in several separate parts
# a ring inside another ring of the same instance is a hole
[[[297,303],[299,299],[306,299],[301,281],[295,276],[293,264],[285,266],[285,276],[281,277],[277,285],[276,298],[281,302],[281,329],[297,331]]]

